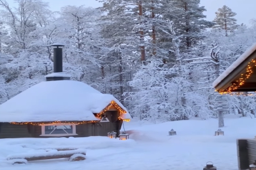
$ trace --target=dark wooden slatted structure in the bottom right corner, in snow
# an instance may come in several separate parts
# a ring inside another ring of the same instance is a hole
[[[256,139],[237,139],[238,169],[249,169],[256,160]]]

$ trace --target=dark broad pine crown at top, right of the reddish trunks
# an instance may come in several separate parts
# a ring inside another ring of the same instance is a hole
[[[198,44],[203,39],[201,31],[213,25],[204,20],[206,9],[200,6],[200,0],[168,0],[163,8],[164,18],[174,22],[177,35],[183,35],[181,52]]]

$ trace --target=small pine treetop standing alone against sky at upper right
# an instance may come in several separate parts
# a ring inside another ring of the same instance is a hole
[[[222,8],[218,8],[218,11],[215,12],[215,14],[216,18],[213,20],[215,23],[213,28],[224,29],[226,31],[226,36],[228,36],[228,32],[232,32],[238,27],[237,19],[234,18],[237,14],[228,6],[224,5]]]

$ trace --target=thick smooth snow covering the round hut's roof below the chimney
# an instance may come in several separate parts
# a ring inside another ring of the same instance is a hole
[[[41,82],[0,105],[0,122],[92,121],[114,100],[85,83],[73,80]],[[130,118],[127,112],[122,118]]]

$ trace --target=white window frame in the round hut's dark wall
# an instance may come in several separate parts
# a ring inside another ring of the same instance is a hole
[[[72,134],[46,134],[46,126],[65,126],[65,125],[72,125]],[[76,125],[77,124],[44,124],[41,126],[41,135],[40,137],[67,137],[67,136],[75,136],[76,134]]]

